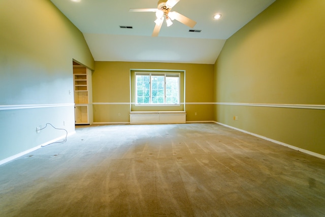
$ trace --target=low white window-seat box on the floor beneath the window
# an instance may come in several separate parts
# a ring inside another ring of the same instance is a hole
[[[130,124],[184,124],[185,112],[131,112]]]

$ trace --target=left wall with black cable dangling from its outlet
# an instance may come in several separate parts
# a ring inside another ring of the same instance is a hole
[[[36,127],[74,131],[73,59],[94,67],[82,33],[49,0],[0,1],[0,161],[65,134]]]

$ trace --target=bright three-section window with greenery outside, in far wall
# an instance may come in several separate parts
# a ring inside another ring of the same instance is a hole
[[[136,73],[136,104],[179,104],[180,74]]]

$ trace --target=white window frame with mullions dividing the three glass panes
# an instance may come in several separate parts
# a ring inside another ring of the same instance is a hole
[[[150,95],[149,95],[149,103],[138,103],[138,82],[137,82],[137,76],[149,76],[149,89],[150,89]],[[164,103],[152,103],[152,76],[164,76]],[[175,76],[178,78],[178,103],[166,103],[166,78],[170,76]],[[150,71],[150,72],[144,72],[144,71],[136,71],[135,72],[135,105],[136,106],[179,106],[181,104],[181,73],[168,73],[168,72],[157,72],[157,71]]]

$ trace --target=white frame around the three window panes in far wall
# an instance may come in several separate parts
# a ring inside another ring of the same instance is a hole
[[[166,76],[167,75],[177,75],[178,76],[178,103],[174,103],[174,104],[167,104],[167,103],[152,103],[151,100],[151,95],[149,96],[150,97],[150,103],[137,103],[137,95],[138,95],[138,84],[137,84],[137,75],[149,75],[150,76],[150,94],[151,94],[151,91],[152,91],[152,88],[151,88],[151,75],[164,75],[165,76],[165,85],[164,85],[164,101],[166,101]],[[160,72],[155,72],[155,71],[152,71],[152,72],[141,72],[141,71],[138,71],[135,73],[135,106],[180,106],[181,103],[181,74],[180,73],[167,73],[167,72],[164,72],[164,73],[160,73]]]

